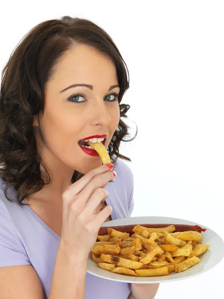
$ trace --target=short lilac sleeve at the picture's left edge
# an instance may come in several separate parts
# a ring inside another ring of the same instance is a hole
[[[11,218],[0,200],[0,267],[30,265],[16,238]]]

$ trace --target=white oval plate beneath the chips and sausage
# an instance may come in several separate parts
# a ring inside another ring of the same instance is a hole
[[[158,276],[158,277],[135,277],[135,276],[128,276],[123,274],[111,273],[110,271],[104,270],[95,263],[92,258],[90,252],[88,261],[87,261],[87,272],[93,274],[95,276],[109,279],[112,281],[123,282],[123,283],[142,283],[142,284],[153,284],[153,283],[165,283],[165,282],[173,282],[178,281],[186,278],[190,278],[199,274],[202,274],[214,266],[216,266],[224,257],[224,241],[223,239],[213,230],[210,228],[198,224],[195,222],[191,222],[184,219],[179,218],[171,218],[171,217],[129,217],[129,218],[122,218],[111,220],[103,223],[102,227],[104,226],[116,226],[116,225],[129,225],[129,224],[190,224],[190,225],[199,225],[202,228],[206,228],[207,231],[202,232],[203,235],[203,242],[204,244],[209,244],[209,249],[204,252],[202,255],[199,256],[201,262],[196,264],[195,266],[191,267],[190,269],[176,273],[171,272],[166,276]]]

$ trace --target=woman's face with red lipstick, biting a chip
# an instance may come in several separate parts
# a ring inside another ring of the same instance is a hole
[[[93,85],[93,89],[73,84]],[[119,123],[119,104],[114,95],[119,93],[114,64],[88,46],[77,46],[64,55],[57,73],[47,83],[45,111],[40,117],[44,145],[39,140],[41,153],[54,173],[68,169],[86,173],[102,164],[100,156],[85,153],[78,141],[93,135],[108,135],[108,148]],[[84,96],[73,96],[81,93]],[[116,99],[116,101],[112,101]],[[78,102],[78,103],[75,103]],[[34,126],[38,123],[34,121]]]

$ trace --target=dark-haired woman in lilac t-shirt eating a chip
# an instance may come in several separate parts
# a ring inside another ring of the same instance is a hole
[[[119,154],[120,141],[128,135],[120,118],[130,107],[120,104],[129,88],[124,64],[102,28],[64,16],[35,26],[4,67],[3,298],[155,296],[158,284],[120,283],[86,272],[101,225],[129,217],[133,210],[133,174],[121,160],[130,159]],[[112,164],[102,165],[97,152],[87,149],[89,139],[103,142]]]

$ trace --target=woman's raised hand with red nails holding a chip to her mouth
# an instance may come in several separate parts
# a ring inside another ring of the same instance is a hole
[[[104,187],[114,178],[109,166],[101,165],[90,170],[62,194],[63,222],[60,248],[63,248],[68,257],[76,257],[77,253],[82,253],[87,260],[97,241],[101,225],[112,213],[108,205],[96,213],[99,204],[109,195]]]

